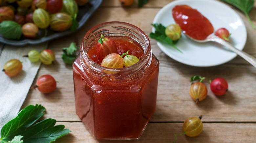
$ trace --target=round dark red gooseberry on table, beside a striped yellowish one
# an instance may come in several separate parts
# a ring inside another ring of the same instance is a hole
[[[224,95],[228,90],[227,81],[224,78],[215,78],[213,81],[210,81],[211,91],[215,95]]]

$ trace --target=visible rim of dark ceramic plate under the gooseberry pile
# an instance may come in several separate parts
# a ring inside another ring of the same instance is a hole
[[[76,30],[80,29],[86,23],[86,21],[91,17],[91,15],[96,11],[96,9],[99,8],[102,1],[103,0],[89,0],[89,4],[79,7],[78,14],[76,17],[76,20],[78,21],[79,26]],[[48,32],[46,37],[43,37],[44,30],[40,29],[38,32],[38,36],[35,39],[26,39],[24,36],[22,36],[20,40],[8,40],[8,39],[5,39],[0,34],[0,42],[9,44],[9,45],[23,46],[27,44],[39,44],[39,43],[57,39],[72,33],[70,30],[63,31],[63,32],[55,32],[50,28],[48,28],[47,31]]]

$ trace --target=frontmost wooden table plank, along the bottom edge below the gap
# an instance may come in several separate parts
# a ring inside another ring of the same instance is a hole
[[[174,134],[182,134],[183,123],[149,123],[138,140],[98,141],[81,122],[57,122],[72,132],[56,140],[56,143],[168,143],[175,140]],[[177,136],[176,143],[234,143],[255,142],[256,124],[203,123],[203,131],[197,137]]]

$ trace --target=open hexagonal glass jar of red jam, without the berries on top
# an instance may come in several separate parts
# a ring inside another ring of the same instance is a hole
[[[113,40],[117,54],[140,58],[118,69],[103,67],[96,43],[101,35]],[[156,109],[159,61],[138,27],[107,22],[85,35],[73,63],[76,113],[98,140],[137,139]]]

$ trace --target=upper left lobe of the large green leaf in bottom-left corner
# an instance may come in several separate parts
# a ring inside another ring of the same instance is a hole
[[[22,109],[18,115],[6,123],[1,129],[0,142],[10,141],[15,135],[20,135],[36,120],[44,115],[45,108],[42,105],[29,105]]]

